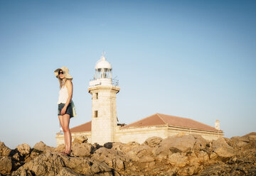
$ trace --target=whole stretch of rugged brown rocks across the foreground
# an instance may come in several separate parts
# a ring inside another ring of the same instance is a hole
[[[151,137],[144,143],[73,142],[64,145],[21,144],[11,150],[0,143],[0,175],[256,175],[256,138],[206,141],[198,135]]]

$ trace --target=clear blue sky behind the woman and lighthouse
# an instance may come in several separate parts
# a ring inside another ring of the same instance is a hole
[[[255,1],[0,0],[0,141],[56,145],[58,79],[73,76],[78,116],[102,51],[119,79],[117,116],[156,112],[214,126],[225,137],[256,131]]]

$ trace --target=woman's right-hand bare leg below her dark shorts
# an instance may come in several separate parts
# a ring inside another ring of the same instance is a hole
[[[72,141],[70,128],[69,128],[70,115],[64,114],[62,119],[63,119],[63,132],[64,132],[64,136],[65,136],[65,153],[70,153],[71,141]]]

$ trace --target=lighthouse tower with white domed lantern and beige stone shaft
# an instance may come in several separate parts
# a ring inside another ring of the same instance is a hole
[[[112,79],[112,67],[105,55],[95,65],[95,76],[88,92],[92,94],[92,143],[114,142],[117,128],[118,81]]]

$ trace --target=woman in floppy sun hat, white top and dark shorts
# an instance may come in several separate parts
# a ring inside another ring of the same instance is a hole
[[[69,128],[70,118],[73,117],[73,109],[71,106],[73,97],[73,83],[71,75],[68,73],[67,67],[61,67],[54,71],[55,76],[60,82],[60,91],[58,97],[58,118],[60,126],[63,128],[65,139],[65,150],[62,155],[70,156],[71,153],[71,133]]]

